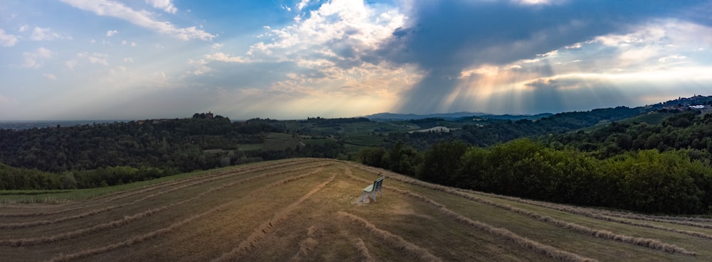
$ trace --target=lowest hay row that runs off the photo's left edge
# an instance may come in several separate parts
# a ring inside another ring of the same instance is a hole
[[[293,171],[290,171],[290,172],[293,172]],[[129,224],[130,222],[134,222],[134,221],[136,221],[136,220],[138,220],[138,219],[142,219],[142,218],[145,218],[145,217],[150,217],[150,216],[152,216],[153,214],[156,214],[156,213],[158,213],[158,212],[165,211],[165,210],[167,210],[167,209],[169,209],[169,208],[171,208],[171,207],[175,207],[175,206],[177,206],[177,205],[179,205],[179,204],[185,204],[185,203],[187,203],[187,202],[191,202],[191,201],[197,200],[197,199],[199,199],[200,197],[203,197],[204,195],[207,195],[207,194],[209,194],[209,193],[211,193],[211,192],[223,190],[223,189],[225,189],[225,188],[227,188],[227,187],[233,187],[234,185],[244,184],[244,183],[249,182],[249,181],[251,181],[251,180],[257,180],[257,179],[261,179],[261,178],[268,178],[268,177],[275,176],[275,175],[281,175],[281,174],[283,174],[283,173],[285,173],[285,172],[267,173],[267,174],[258,175],[258,176],[251,177],[251,178],[244,178],[244,179],[242,179],[242,180],[238,180],[238,181],[235,181],[235,182],[230,182],[230,183],[221,185],[221,186],[219,186],[219,187],[210,188],[209,190],[206,190],[206,191],[204,191],[204,192],[201,192],[199,195],[196,195],[195,197],[189,198],[188,200],[182,200],[182,201],[180,201],[180,202],[174,202],[174,203],[172,203],[172,204],[164,205],[163,207],[157,207],[157,208],[155,208],[155,209],[150,209],[150,210],[147,210],[147,211],[145,211],[145,212],[138,213],[138,214],[132,214],[132,215],[130,215],[130,216],[125,216],[125,217],[123,217],[122,219],[117,219],[117,220],[114,220],[114,221],[112,221],[112,222],[106,222],[106,223],[103,223],[103,224],[98,224],[98,225],[91,226],[91,227],[85,228],[85,229],[78,229],[78,230],[75,230],[75,231],[70,231],[70,232],[66,232],[66,233],[62,233],[62,234],[55,234],[55,235],[52,235],[52,236],[41,236],[41,237],[30,238],[30,239],[4,239],[4,240],[0,240],[0,246],[33,246],[33,245],[38,245],[38,244],[47,244],[47,243],[53,243],[53,242],[56,242],[56,241],[61,241],[61,240],[66,240],[66,239],[72,239],[72,238],[75,238],[75,237],[78,237],[78,236],[85,236],[85,235],[88,235],[88,234],[95,234],[95,233],[98,233],[98,232],[100,232],[100,231],[104,231],[104,230],[108,230],[108,229],[113,229],[113,228],[117,228],[117,227],[119,227],[119,226],[123,226],[123,225],[125,225],[125,224]]]

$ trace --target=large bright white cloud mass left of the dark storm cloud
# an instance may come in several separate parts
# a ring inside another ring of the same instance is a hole
[[[309,13],[300,13],[291,25],[264,26],[268,32],[262,34],[263,40],[251,45],[243,55],[214,52],[205,55],[205,61],[189,61],[196,68],[189,73],[204,73],[202,66],[215,62],[269,67],[270,74],[248,76],[251,81],[240,84],[239,90],[263,92],[270,101],[279,98],[287,110],[332,112],[344,111],[345,104],[368,105],[372,110],[383,111],[397,102],[398,94],[422,79],[424,73],[414,65],[367,59],[376,58],[375,52],[397,28],[404,26],[404,14],[397,9],[387,10],[387,6],[375,9],[357,0],[333,0],[320,5]],[[217,68],[229,66],[216,65],[211,75],[226,74],[227,70]],[[315,102],[321,109],[309,106]]]

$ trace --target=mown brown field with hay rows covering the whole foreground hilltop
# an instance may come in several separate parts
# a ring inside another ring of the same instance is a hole
[[[379,175],[384,196],[359,202]],[[0,261],[712,261],[712,219],[520,200],[311,158],[0,204],[0,232]]]

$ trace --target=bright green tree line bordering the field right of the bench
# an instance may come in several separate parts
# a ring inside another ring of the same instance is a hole
[[[712,213],[712,168],[686,150],[596,158],[529,138],[482,148],[441,141],[425,151],[367,148],[367,165],[434,182],[534,200],[666,214]]]

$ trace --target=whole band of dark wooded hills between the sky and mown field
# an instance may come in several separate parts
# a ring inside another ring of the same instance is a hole
[[[641,212],[712,213],[712,97],[541,119],[189,119],[0,129],[0,190],[103,187],[292,157]],[[448,131],[422,131],[444,126]],[[525,139],[522,139],[525,138]]]

